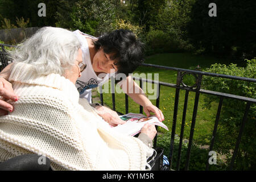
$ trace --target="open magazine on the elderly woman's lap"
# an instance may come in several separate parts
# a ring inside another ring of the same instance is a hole
[[[145,117],[143,114],[129,113],[120,115],[119,117],[126,123],[123,125],[115,126],[113,129],[123,134],[134,136],[141,132],[142,127],[146,123],[153,123],[154,125],[158,125],[168,130],[168,127],[164,125],[164,123],[160,122],[154,115]]]

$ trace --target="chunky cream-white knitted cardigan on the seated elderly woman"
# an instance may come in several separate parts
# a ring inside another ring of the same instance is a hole
[[[68,79],[38,77],[31,65],[16,63],[9,81],[19,100],[12,113],[0,117],[0,162],[36,153],[58,170],[145,169],[152,149],[115,133],[86,100],[79,100]]]

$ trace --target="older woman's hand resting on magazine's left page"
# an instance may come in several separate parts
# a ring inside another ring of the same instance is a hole
[[[125,122],[119,118],[117,112],[105,106],[96,106],[98,115],[112,126],[122,125]]]

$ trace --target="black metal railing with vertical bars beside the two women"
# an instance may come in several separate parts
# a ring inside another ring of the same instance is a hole
[[[2,50],[0,49],[1,63],[2,63],[2,66],[5,67],[7,65],[6,64],[7,59],[5,57],[6,52],[5,52],[4,46],[9,46],[9,45],[0,44],[0,46],[2,48]],[[196,124],[197,107],[199,105],[199,96],[200,96],[200,94],[202,94],[202,93],[203,94],[210,94],[210,95],[218,96],[220,98],[220,101],[218,103],[216,119],[215,119],[215,123],[214,123],[214,129],[213,129],[213,133],[212,133],[212,139],[210,140],[209,151],[212,151],[212,149],[213,149],[214,139],[216,138],[217,126],[218,126],[218,121],[219,121],[219,118],[220,118],[220,113],[221,113],[223,100],[225,98],[232,98],[232,99],[235,99],[235,100],[240,100],[240,101],[246,102],[245,113],[243,114],[243,119],[242,119],[242,122],[241,122],[240,131],[238,133],[238,137],[237,137],[237,140],[236,140],[236,146],[234,147],[232,160],[231,160],[231,162],[228,166],[228,170],[232,170],[233,166],[234,166],[234,160],[236,159],[236,156],[237,156],[238,147],[239,147],[240,142],[241,142],[241,136],[242,136],[242,133],[243,133],[243,129],[245,127],[245,122],[246,122],[247,115],[249,113],[250,106],[252,104],[256,103],[256,99],[249,98],[249,97],[237,96],[237,95],[234,95],[234,94],[215,92],[215,91],[212,91],[212,90],[204,90],[204,89],[201,89],[201,81],[202,81],[204,76],[222,77],[222,78],[229,78],[229,79],[233,79],[233,80],[241,80],[241,81],[249,81],[249,82],[256,82],[256,79],[255,78],[238,77],[238,76],[221,75],[221,74],[217,74],[217,73],[194,71],[194,70],[189,70],[189,69],[164,67],[164,66],[161,66],[161,65],[153,65],[153,64],[141,64],[141,66],[160,68],[160,69],[166,69],[166,70],[169,70],[169,71],[176,71],[177,72],[176,84],[134,77],[134,80],[139,81],[139,86],[141,86],[141,88],[143,87],[143,82],[150,82],[152,84],[158,85],[157,86],[157,92],[158,92],[157,95],[158,95],[158,97],[156,98],[156,107],[158,107],[158,108],[159,108],[159,104],[160,104],[160,88],[162,86],[167,86],[167,87],[176,89],[175,103],[174,103],[174,115],[173,115],[173,119],[172,119],[170,154],[169,154],[170,169],[172,168],[172,160],[173,160],[173,153],[174,153],[174,139],[175,139],[175,130],[176,130],[176,123],[177,123],[177,111],[178,111],[178,106],[179,106],[180,90],[185,90],[185,98],[184,98],[184,106],[183,106],[183,115],[182,115],[182,122],[181,122],[181,131],[180,131],[180,140],[179,140],[179,149],[178,149],[176,170],[180,169],[181,147],[182,147],[182,143],[183,143],[183,133],[184,133],[185,118],[186,118],[186,114],[187,114],[187,104],[188,104],[189,92],[195,92],[195,101],[194,101],[194,105],[193,105],[192,123],[191,123],[191,129],[190,129],[190,134],[189,134],[189,143],[188,143],[188,150],[187,150],[187,156],[186,156],[186,162],[185,162],[185,170],[189,169],[189,160],[191,158],[191,147],[192,147],[193,134],[194,134],[195,124]],[[184,84],[184,82],[183,82],[183,77],[185,75],[189,75],[189,74],[196,78],[195,85],[193,85],[193,86],[188,86],[188,85]],[[114,81],[112,81],[111,89],[112,90],[114,89]],[[100,100],[101,100],[101,105],[104,105],[102,86],[100,87]],[[112,93],[112,109],[116,110],[116,107],[115,107],[115,93]],[[140,111],[140,113],[143,113],[142,106],[139,106],[139,111]],[[125,94],[125,112],[126,112],[126,114],[129,113],[129,102],[128,102],[127,94]],[[157,129],[157,127],[156,127],[156,129]],[[154,139],[154,146],[156,146],[156,143],[157,143],[157,135]],[[206,170],[209,170],[209,163],[206,163]]]

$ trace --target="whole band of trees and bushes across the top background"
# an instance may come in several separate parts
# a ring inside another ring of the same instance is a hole
[[[46,4],[46,17],[38,4]],[[217,16],[210,17],[209,3]],[[127,28],[146,43],[147,55],[207,53],[229,59],[255,57],[256,1],[220,0],[0,0],[0,27],[57,26],[100,36]]]

